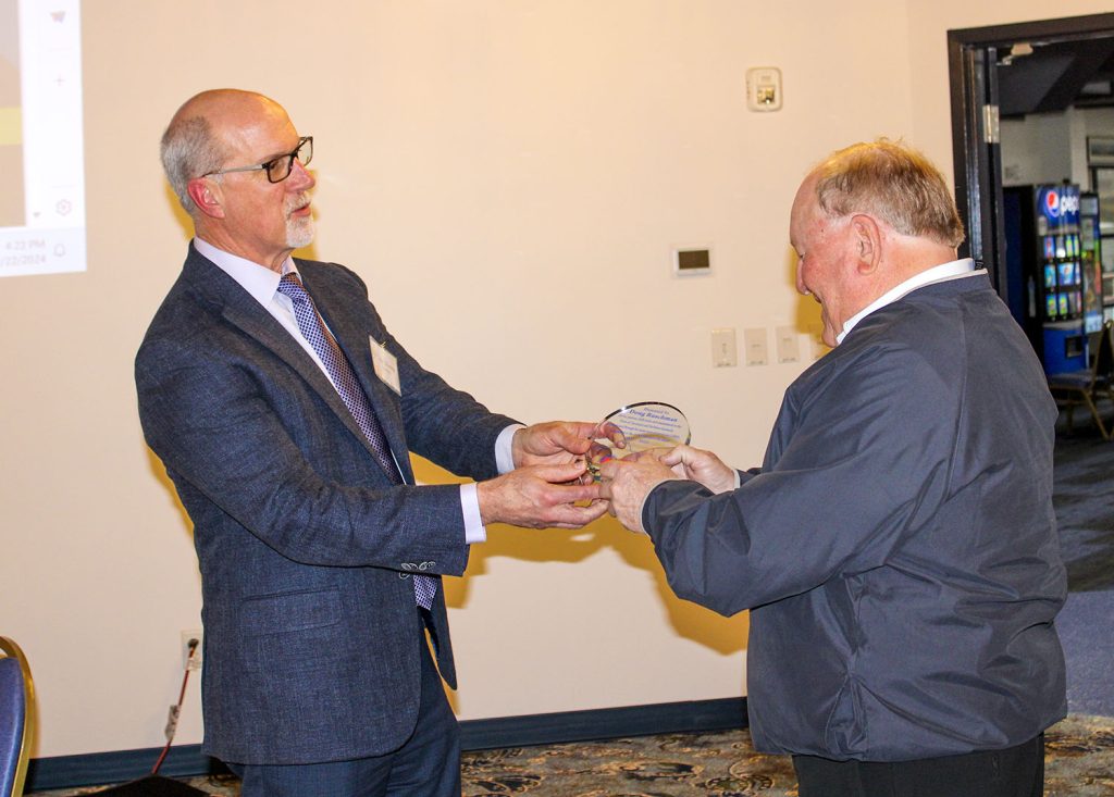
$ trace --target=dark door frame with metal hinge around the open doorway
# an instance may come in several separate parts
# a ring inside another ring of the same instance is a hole
[[[1114,37],[1114,13],[948,31],[956,204],[967,229],[959,254],[975,258],[989,270],[1003,298],[1007,286],[997,120],[998,51],[1020,41],[1105,37]]]

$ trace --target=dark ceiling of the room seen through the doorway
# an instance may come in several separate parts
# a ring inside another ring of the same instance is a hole
[[[1003,117],[1114,106],[1114,37],[998,49]]]

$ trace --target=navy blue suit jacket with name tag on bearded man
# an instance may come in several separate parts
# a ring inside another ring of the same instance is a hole
[[[496,475],[514,423],[423,370],[360,278],[297,260],[401,466],[392,485],[332,384],[234,279],[190,247],[136,357],[139,417],[194,522],[205,624],[204,751],[241,764],[381,755],[413,729],[420,633],[409,572],[468,561],[459,486],[414,486],[413,451]],[[402,395],[374,374],[398,357]],[[438,663],[456,671],[442,591]]]

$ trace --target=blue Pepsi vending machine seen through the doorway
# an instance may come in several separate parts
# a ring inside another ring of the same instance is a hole
[[[1085,368],[1079,188],[1014,186],[1003,195],[1009,309],[1046,373]]]

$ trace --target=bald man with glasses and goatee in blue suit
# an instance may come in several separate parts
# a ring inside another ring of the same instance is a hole
[[[407,353],[353,272],[294,259],[312,156],[281,106],[237,90],[189,99],[163,138],[195,237],[136,384],[194,522],[204,750],[245,797],[458,797],[440,575],[488,523],[599,516],[592,424],[489,412]],[[411,451],[480,481],[418,486]]]

